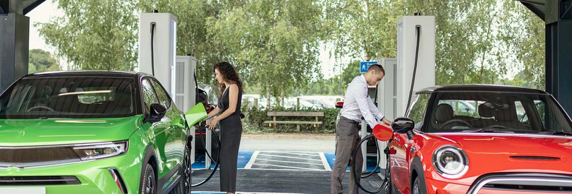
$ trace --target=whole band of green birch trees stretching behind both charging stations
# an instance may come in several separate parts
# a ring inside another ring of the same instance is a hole
[[[57,2],[64,16],[34,25],[72,70],[134,70],[136,13],[158,9],[177,16],[177,54],[197,57],[202,83],[212,84],[213,64],[229,61],[252,93],[340,94],[359,75],[358,61],[396,57],[398,18],[420,12],[436,19],[436,84],[544,88],[544,23],[513,0]],[[312,79],[320,43],[355,61],[338,77]],[[522,75],[506,79],[509,70]]]

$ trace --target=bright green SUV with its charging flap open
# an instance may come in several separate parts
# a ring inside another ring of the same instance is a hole
[[[144,73],[29,74],[0,96],[0,193],[189,193],[205,117]]]

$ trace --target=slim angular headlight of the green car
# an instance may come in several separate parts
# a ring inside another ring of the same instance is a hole
[[[78,144],[73,146],[73,151],[80,156],[81,161],[104,159],[119,156],[127,152],[127,142],[128,141]]]

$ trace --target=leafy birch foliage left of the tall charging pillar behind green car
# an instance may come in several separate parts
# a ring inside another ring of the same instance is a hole
[[[58,0],[63,17],[34,23],[47,45],[70,69],[133,71],[137,61],[137,17],[132,1]]]

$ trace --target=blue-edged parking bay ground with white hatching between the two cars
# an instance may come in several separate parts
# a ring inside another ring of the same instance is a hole
[[[376,165],[376,158],[368,156],[367,159],[367,171],[372,171]],[[334,162],[333,153],[241,151],[237,165],[237,193],[329,193]],[[193,184],[204,180],[212,171],[204,168],[204,156],[197,155],[193,164]],[[346,170],[349,171],[349,167]],[[216,172],[210,181],[192,188],[192,193],[221,193],[219,180],[219,173]],[[348,180],[349,172],[346,172],[343,180],[344,189],[347,189]],[[378,173],[362,179],[362,185],[366,185],[368,189],[373,189],[381,183],[382,178]]]

